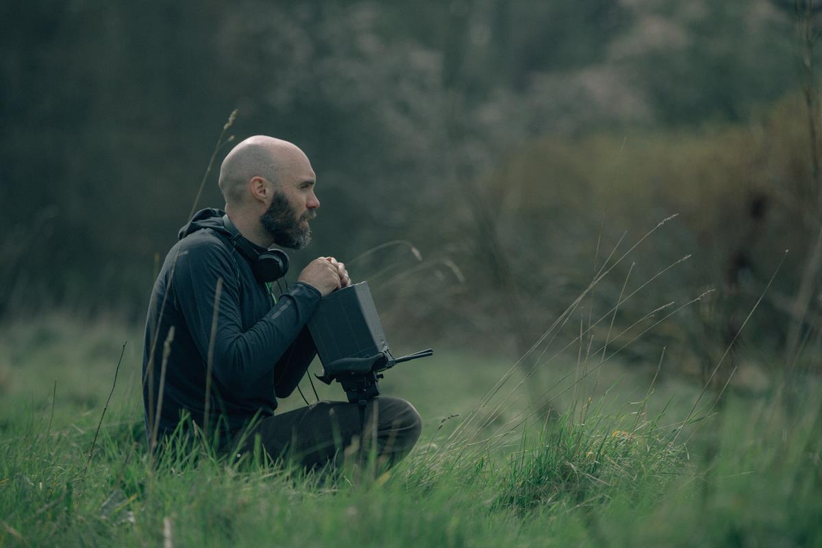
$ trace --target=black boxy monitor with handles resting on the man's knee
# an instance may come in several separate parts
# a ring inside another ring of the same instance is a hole
[[[322,297],[308,329],[324,370],[316,378],[326,385],[339,382],[349,403],[358,403],[361,411],[368,399],[380,394],[382,371],[434,353],[427,348],[403,357],[391,355],[367,282]]]

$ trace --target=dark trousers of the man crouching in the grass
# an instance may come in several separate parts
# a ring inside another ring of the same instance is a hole
[[[368,400],[365,431],[362,424],[356,403],[312,403],[240,432],[238,457],[251,452],[259,436],[270,457],[293,459],[307,469],[338,466],[346,456],[367,458],[372,451],[377,463],[390,466],[409,453],[423,426],[413,405],[388,396]]]

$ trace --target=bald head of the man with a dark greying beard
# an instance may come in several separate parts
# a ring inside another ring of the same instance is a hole
[[[243,236],[263,246],[300,249],[320,200],[316,175],[302,150],[285,140],[253,136],[235,146],[219,169],[229,217]]]

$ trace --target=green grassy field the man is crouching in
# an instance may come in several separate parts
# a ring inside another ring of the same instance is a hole
[[[437,348],[382,381],[425,421],[409,458],[305,476],[206,449],[151,463],[140,339],[116,317],[3,326],[0,546],[822,546],[816,381],[715,405],[664,358],[568,352],[517,388],[514,360]]]

